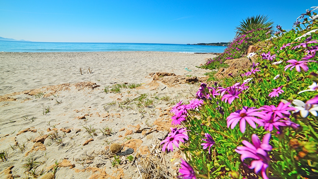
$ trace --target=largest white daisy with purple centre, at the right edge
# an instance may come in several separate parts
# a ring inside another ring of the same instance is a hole
[[[296,108],[295,112],[300,112],[300,115],[302,118],[306,118],[308,116],[308,112],[310,112],[313,116],[318,116],[317,111],[318,111],[318,105],[314,104],[306,104],[302,102],[301,100],[294,99],[293,100],[294,108]]]

